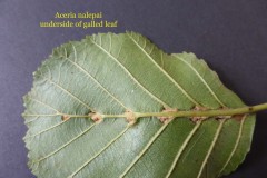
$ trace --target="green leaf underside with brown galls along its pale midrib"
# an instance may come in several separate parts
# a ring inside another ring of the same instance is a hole
[[[23,117],[38,177],[214,178],[249,151],[255,116],[222,115],[246,106],[207,63],[138,33],[62,44],[33,76]]]

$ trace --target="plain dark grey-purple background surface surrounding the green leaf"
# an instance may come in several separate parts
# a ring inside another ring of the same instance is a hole
[[[59,12],[102,11],[118,28],[40,28]],[[192,51],[247,105],[267,101],[266,0],[0,0],[0,178],[33,177],[22,141],[22,96],[32,72],[68,40],[132,30],[167,52]],[[227,178],[267,175],[267,112],[258,113],[251,151]]]

